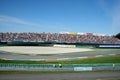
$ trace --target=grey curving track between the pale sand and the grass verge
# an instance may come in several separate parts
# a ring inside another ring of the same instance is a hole
[[[98,50],[91,52],[79,52],[79,53],[69,53],[69,54],[54,54],[54,55],[21,55],[0,52],[0,59],[13,59],[13,60],[59,60],[68,58],[78,58],[78,57],[89,57],[89,56],[107,56],[113,54],[120,54],[120,50]]]

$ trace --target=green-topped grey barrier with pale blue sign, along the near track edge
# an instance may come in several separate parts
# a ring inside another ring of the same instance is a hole
[[[96,71],[120,70],[120,63],[116,64],[6,64],[0,63],[0,71]]]

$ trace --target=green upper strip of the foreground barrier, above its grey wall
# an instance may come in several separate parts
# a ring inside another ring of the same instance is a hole
[[[0,63],[0,67],[53,67],[53,65],[59,66],[59,64],[14,64],[14,63]],[[98,67],[98,66],[120,66],[120,63],[103,63],[103,64],[61,64],[62,67]]]

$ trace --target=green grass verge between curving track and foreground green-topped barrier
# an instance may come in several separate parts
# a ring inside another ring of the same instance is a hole
[[[120,55],[104,56],[97,58],[73,59],[73,60],[47,60],[47,61],[18,61],[18,60],[0,60],[0,63],[16,64],[97,64],[97,63],[120,63]]]

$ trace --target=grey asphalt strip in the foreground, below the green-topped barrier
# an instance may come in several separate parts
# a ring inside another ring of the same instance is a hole
[[[120,72],[0,74],[0,80],[108,80],[111,78],[120,79]]]

